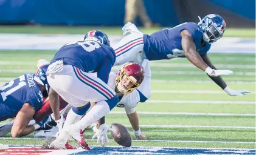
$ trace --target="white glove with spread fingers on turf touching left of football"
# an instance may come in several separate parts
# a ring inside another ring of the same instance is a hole
[[[107,132],[112,131],[112,128],[106,126],[106,124],[100,125],[99,129],[97,127],[93,128],[95,134],[92,136],[92,139],[97,137],[97,143],[102,143],[102,147],[105,147],[105,143],[109,142]]]

